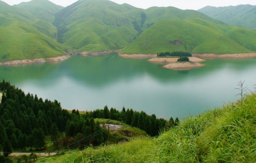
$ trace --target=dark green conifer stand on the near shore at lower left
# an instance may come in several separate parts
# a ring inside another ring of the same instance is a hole
[[[14,150],[41,150],[45,148],[45,137],[50,137],[54,146],[64,147],[85,137],[78,146],[99,145],[107,141],[107,131],[95,118],[104,118],[125,122],[146,131],[149,135],[158,135],[167,121],[157,119],[155,114],[147,115],[125,109],[119,112],[115,108],[97,109],[80,114],[78,110],[69,112],[62,109],[57,100],[39,98],[36,94],[25,94],[9,82],[0,82],[3,92],[0,103],[0,151],[8,155]],[[94,134],[95,133],[95,134]],[[91,136],[90,136],[91,135]]]

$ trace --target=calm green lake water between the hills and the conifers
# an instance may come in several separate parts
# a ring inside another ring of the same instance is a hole
[[[146,59],[73,56],[59,63],[0,66],[0,80],[65,109],[81,111],[123,106],[169,119],[195,115],[238,99],[236,84],[253,90],[256,58],[211,59],[186,71],[162,68]]]

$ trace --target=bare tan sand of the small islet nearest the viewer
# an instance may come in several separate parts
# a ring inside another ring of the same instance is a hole
[[[163,68],[167,69],[189,69],[189,68],[196,68],[202,67],[204,64],[196,63],[196,62],[173,62],[163,66]]]

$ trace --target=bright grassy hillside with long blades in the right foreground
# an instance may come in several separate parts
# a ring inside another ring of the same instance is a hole
[[[254,163],[256,95],[184,119],[158,138],[88,148],[38,163]]]

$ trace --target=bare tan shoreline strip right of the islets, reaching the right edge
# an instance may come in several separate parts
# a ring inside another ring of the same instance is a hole
[[[255,52],[230,53],[230,54],[192,53],[192,56],[203,57],[203,58],[253,58],[253,57],[256,57],[256,53]]]

